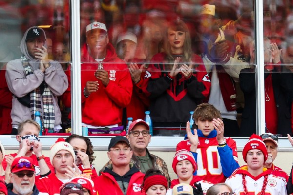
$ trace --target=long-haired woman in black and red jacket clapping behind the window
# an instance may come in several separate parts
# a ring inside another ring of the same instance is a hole
[[[165,52],[151,59],[145,78],[149,79],[146,89],[154,135],[172,136],[185,129],[189,112],[209,95],[210,80],[201,57],[192,53],[189,30],[182,20],[168,26],[166,39]]]

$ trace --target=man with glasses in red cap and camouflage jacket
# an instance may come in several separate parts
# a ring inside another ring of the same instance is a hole
[[[133,121],[129,126],[129,134],[126,135],[126,138],[129,140],[133,151],[131,162],[135,164],[142,173],[146,173],[146,171],[151,168],[162,171],[168,180],[168,184],[170,184],[171,177],[166,162],[162,158],[150,154],[147,150],[147,146],[151,141],[148,124],[142,119]],[[105,167],[110,166],[110,164],[111,161],[109,161],[101,171],[104,170]]]

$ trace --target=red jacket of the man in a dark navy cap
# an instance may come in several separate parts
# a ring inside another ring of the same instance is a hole
[[[123,195],[114,176],[107,172],[101,172],[101,174],[102,175],[98,176],[94,181],[98,195]],[[140,188],[144,176],[145,174],[141,172],[136,172],[131,176],[126,193],[127,195],[145,195]]]

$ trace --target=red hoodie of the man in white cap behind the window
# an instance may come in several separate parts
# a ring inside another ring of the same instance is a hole
[[[81,61],[81,86],[82,86],[82,122],[94,126],[108,126],[121,122],[122,108],[126,107],[132,94],[132,81],[126,63],[116,55],[114,47],[109,43],[107,54],[102,64],[108,71],[110,82],[105,87],[94,73],[98,62],[93,59],[87,50],[87,45],[82,48]],[[66,107],[71,106],[71,77],[67,71],[68,89],[63,94],[63,102]],[[88,98],[83,95],[83,89],[87,81],[99,82],[97,92],[91,93]]]

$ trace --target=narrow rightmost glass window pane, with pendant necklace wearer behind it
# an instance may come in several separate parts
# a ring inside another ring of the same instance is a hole
[[[292,3],[264,0],[266,132],[292,134]]]

